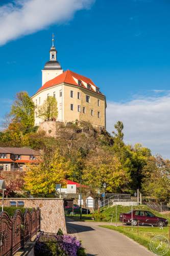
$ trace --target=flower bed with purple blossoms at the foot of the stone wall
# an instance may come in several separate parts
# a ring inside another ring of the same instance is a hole
[[[40,232],[36,238],[35,256],[84,256],[86,255],[81,242],[76,237],[63,234],[47,234]]]

